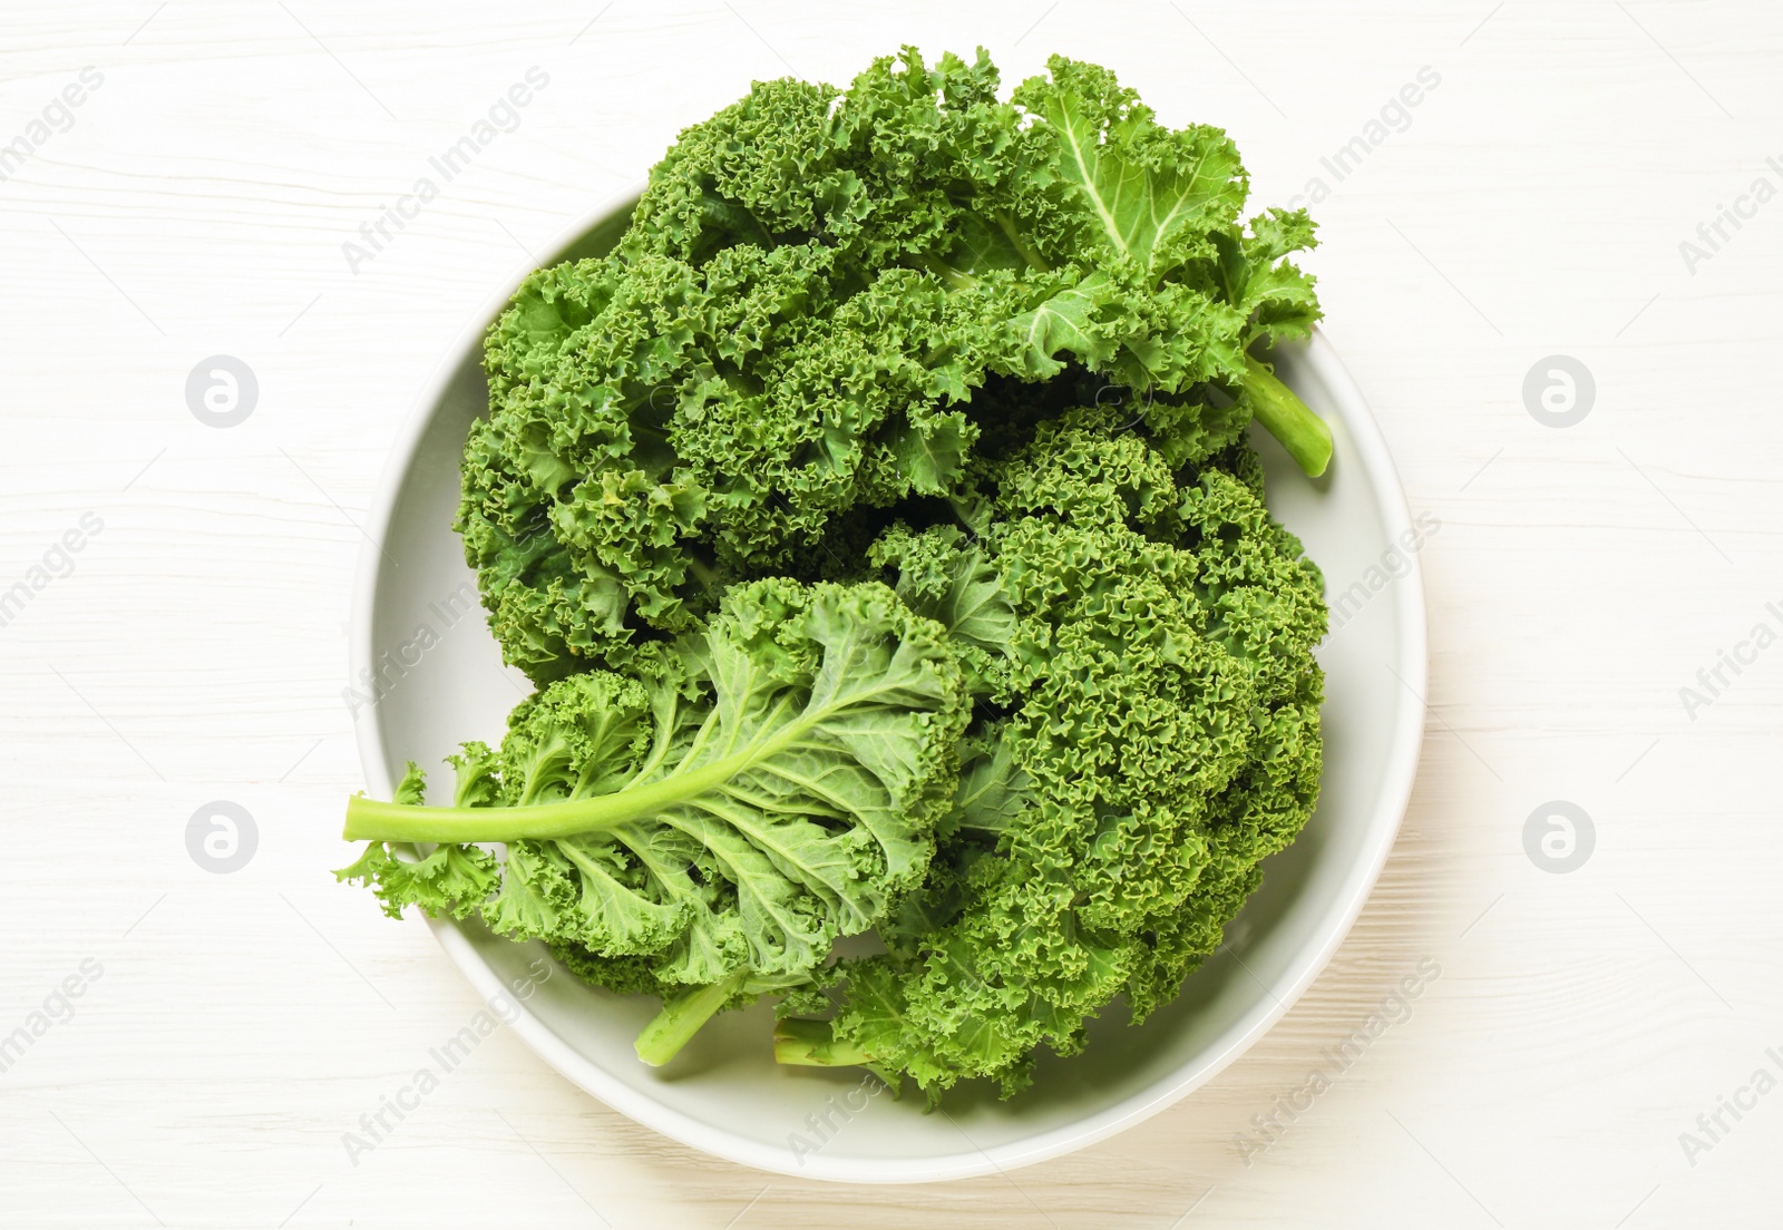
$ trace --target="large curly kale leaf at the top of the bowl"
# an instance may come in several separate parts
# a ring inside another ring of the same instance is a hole
[[[622,667],[838,522],[952,496],[1004,381],[1093,374],[1159,435],[1255,414],[1318,472],[1328,433],[1248,353],[1318,316],[1311,223],[1246,228],[1246,191],[1225,134],[1061,57],[1007,102],[984,52],[758,82],[489,332],[458,529],[508,661]]]

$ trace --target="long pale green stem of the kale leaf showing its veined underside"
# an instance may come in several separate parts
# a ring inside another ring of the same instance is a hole
[[[578,832],[604,832],[722,786],[802,733],[804,724],[795,722],[767,743],[733,752],[701,768],[670,774],[647,786],[535,808],[424,808],[353,795],[346,800],[346,831],[341,836],[348,841],[458,843],[551,840]]]

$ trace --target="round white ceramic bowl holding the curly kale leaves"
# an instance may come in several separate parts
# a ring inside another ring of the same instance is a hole
[[[629,214],[626,200],[585,219],[551,262],[604,251]],[[440,758],[464,740],[496,742],[530,690],[501,665],[451,531],[460,446],[487,408],[483,328],[524,273],[471,323],[421,394],[367,524],[351,652],[355,679],[382,679],[376,704],[358,709],[366,784],[376,797],[389,797],[408,759],[448,783]],[[1417,531],[1393,460],[1321,335],[1277,362],[1335,437],[1335,458],[1318,481],[1273,440],[1259,440],[1269,508],[1325,569],[1327,594],[1348,594],[1319,651],[1325,783],[1300,840],[1264,865],[1262,888],[1227,929],[1227,947],[1171,1005],[1139,1029],[1114,1007],[1091,1025],[1086,1054],[1041,1059],[1031,1091],[998,1102],[963,1087],[945,1114],[924,1114],[920,1093],[868,1093],[858,1070],[776,1066],[767,1005],[713,1020],[656,1070],[631,1050],[654,1000],[615,996],[560,972],[519,1005],[519,1036],[596,1098],[665,1136],[765,1171],[845,1182],[963,1178],[1057,1157],[1163,1111],[1257,1041],[1362,909],[1398,832],[1425,724],[1423,585],[1409,549]],[[544,955],[542,945],[478,925],[437,922],[433,931],[489,1000]]]

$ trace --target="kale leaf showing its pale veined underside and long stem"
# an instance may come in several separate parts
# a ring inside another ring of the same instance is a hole
[[[465,745],[455,806],[421,806],[417,770],[396,802],[353,799],[346,836],[371,843],[339,875],[390,913],[474,911],[628,959],[629,986],[704,988],[690,1014],[710,1014],[808,980],[922,881],[966,704],[945,631],[883,585],[740,585],[699,635],[553,683],[499,750]],[[439,845],[390,849],[410,841]],[[499,863],[474,845],[496,841]]]

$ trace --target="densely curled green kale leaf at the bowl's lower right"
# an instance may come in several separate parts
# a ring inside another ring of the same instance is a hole
[[[843,963],[827,1025],[781,1030],[785,1062],[1015,1093],[1116,995],[1136,1020],[1173,998],[1311,815],[1318,569],[1245,446],[1177,474],[1109,428],[1043,426],[993,471],[979,540],[897,528],[875,547],[918,608],[974,578],[975,626],[1007,631],[961,649],[988,708],[924,891],[881,925],[886,955]]]

